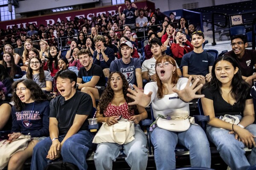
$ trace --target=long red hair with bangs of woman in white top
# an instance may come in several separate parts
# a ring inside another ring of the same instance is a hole
[[[169,55],[166,55],[166,54],[163,55],[163,56],[160,56],[157,59],[156,64],[157,63],[161,63],[161,62],[166,62],[166,61],[169,61],[170,64],[172,64],[176,68],[175,60],[172,57],[170,57]],[[156,70],[156,73],[157,73],[157,67],[155,68],[155,70]],[[158,74],[156,74],[156,76],[157,76],[157,87],[158,87],[157,97],[158,97],[158,99],[162,99],[164,94],[165,94],[165,92],[168,92],[168,89],[166,88],[165,85],[163,85],[163,83],[160,80]],[[179,75],[177,73],[177,68],[176,68],[175,71],[174,71],[174,74],[172,74],[172,83],[176,85],[179,78],[180,77],[179,77]]]

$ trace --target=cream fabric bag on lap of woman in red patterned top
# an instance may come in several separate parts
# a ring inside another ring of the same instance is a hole
[[[134,134],[134,122],[127,119],[122,118],[114,125],[108,125],[106,122],[103,122],[102,127],[94,136],[93,143],[128,144],[135,139]]]

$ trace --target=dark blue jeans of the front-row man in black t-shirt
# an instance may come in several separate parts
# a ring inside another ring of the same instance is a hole
[[[65,135],[59,136],[59,141]],[[61,147],[61,156],[64,162],[75,164],[79,170],[87,170],[86,155],[88,150],[93,149],[93,134],[87,130],[81,130],[68,138]],[[46,159],[48,151],[52,145],[50,137],[38,142],[35,145],[31,161],[31,170],[44,170],[49,159]]]

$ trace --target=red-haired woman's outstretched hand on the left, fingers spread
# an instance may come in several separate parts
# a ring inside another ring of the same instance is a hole
[[[128,103],[128,105],[139,105],[142,107],[146,107],[151,101],[151,94],[150,91],[148,94],[144,94],[136,85],[133,85],[135,90],[131,90],[130,88],[127,89],[128,92],[131,94],[127,94],[128,97],[134,99],[134,102]]]

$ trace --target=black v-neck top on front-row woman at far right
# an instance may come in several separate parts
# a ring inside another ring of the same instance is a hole
[[[236,102],[234,103],[234,105],[230,105],[222,98],[220,92],[218,90],[214,90],[214,88],[212,87],[204,89],[204,91],[202,91],[202,94],[204,94],[205,98],[213,101],[215,116],[224,116],[225,114],[239,115],[242,114],[244,111],[244,108],[239,107]],[[250,96],[250,94],[248,94],[246,99],[251,98],[252,97]]]

